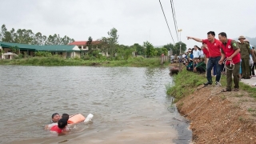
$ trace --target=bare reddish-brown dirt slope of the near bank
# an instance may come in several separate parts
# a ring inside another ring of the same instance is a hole
[[[199,86],[177,102],[190,120],[194,143],[256,143],[256,101],[246,91],[220,93],[223,86]]]

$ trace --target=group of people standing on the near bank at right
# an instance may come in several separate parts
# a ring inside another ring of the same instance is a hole
[[[227,38],[225,32],[218,34],[218,39],[215,38],[214,31],[209,31],[207,33],[207,39],[200,39],[194,37],[187,37],[187,39],[193,39],[197,42],[202,42],[202,52],[205,54],[206,58],[206,78],[207,82],[204,83],[205,86],[212,85],[212,74],[211,71],[213,67],[216,68],[216,78],[215,84],[220,85],[220,78],[223,70],[223,65],[226,67],[226,89],[222,92],[232,90],[232,75],[234,77],[234,91],[239,90],[239,78],[242,71],[242,78],[249,79],[250,74],[254,74],[254,68],[256,63],[256,52],[254,47],[250,46],[250,43],[246,41],[244,36],[238,38],[239,42]],[[197,47],[197,46],[196,46]],[[250,49],[251,48],[251,49]],[[196,48],[194,47],[194,50]],[[197,54],[193,56],[198,56]],[[255,60],[250,62],[251,59]],[[200,57],[199,57],[200,59]],[[190,58],[191,60],[191,58]],[[250,63],[253,63],[250,69]],[[240,70],[241,65],[241,70]]]

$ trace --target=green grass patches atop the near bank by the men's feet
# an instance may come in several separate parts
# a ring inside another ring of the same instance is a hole
[[[213,77],[213,82],[214,82]],[[183,69],[177,75],[174,75],[174,86],[167,87],[167,94],[175,98],[175,102],[179,99],[186,97],[186,95],[193,94],[197,90],[198,86],[206,82],[205,74],[195,74]],[[226,87],[226,76],[222,75],[221,84],[223,89]],[[256,89],[245,83],[239,83],[240,90],[246,90],[251,97],[256,98]]]

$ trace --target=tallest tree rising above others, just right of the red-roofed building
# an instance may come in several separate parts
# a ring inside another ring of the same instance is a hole
[[[109,32],[107,32],[107,34],[109,35],[110,55],[111,57],[114,57],[116,52],[115,46],[118,44],[118,30],[112,28]]]

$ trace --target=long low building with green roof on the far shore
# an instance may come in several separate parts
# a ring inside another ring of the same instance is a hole
[[[14,46],[18,47],[16,54],[28,54],[34,56],[36,51],[48,51],[52,54],[60,54],[63,58],[80,58],[80,49],[74,45],[53,45],[53,46],[38,46],[38,45],[27,45],[20,43],[0,42],[0,46],[4,54],[11,51]]]

